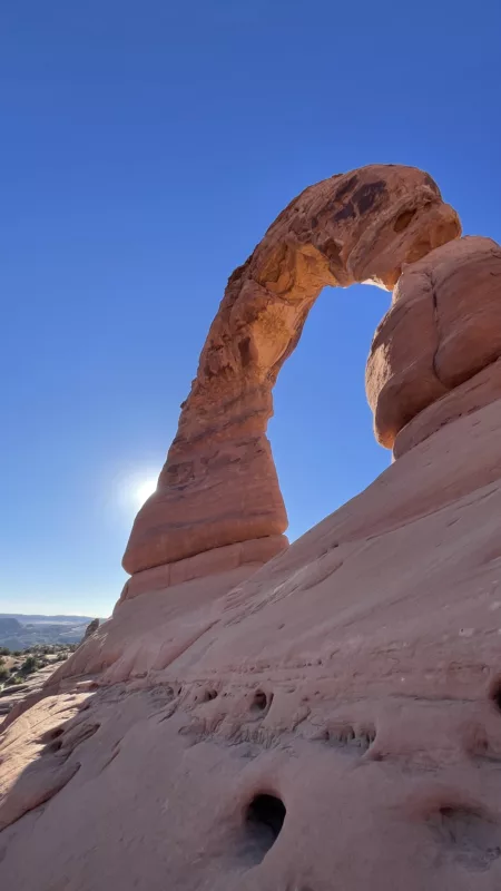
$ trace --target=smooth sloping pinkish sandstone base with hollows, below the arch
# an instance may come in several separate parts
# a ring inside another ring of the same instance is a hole
[[[500,443],[495,401],[247,581],[119,606],[3,731],[1,887],[497,891]]]

